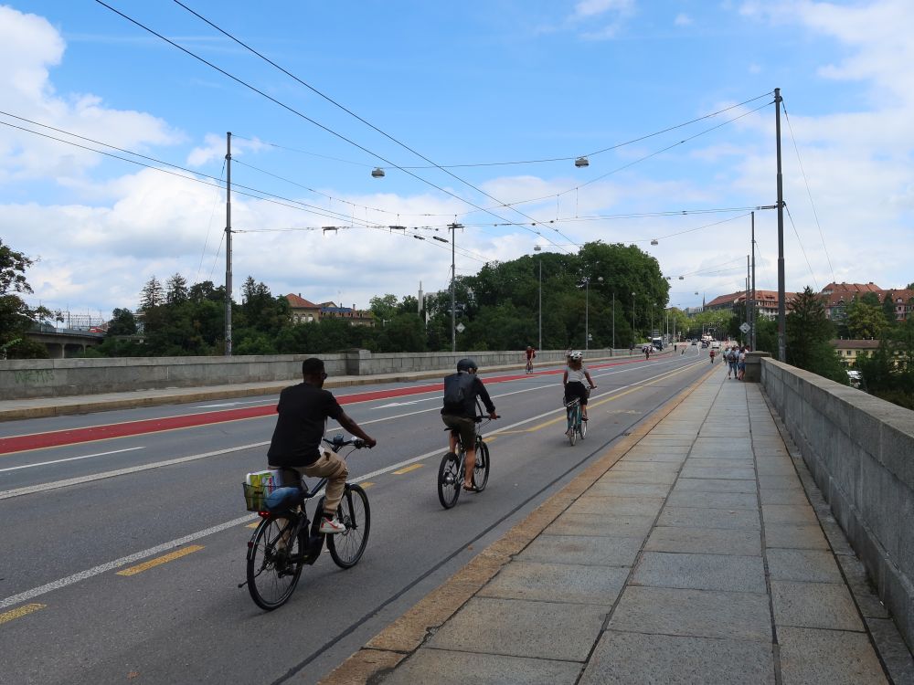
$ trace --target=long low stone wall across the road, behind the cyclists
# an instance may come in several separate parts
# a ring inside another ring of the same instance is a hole
[[[616,354],[628,355],[628,350]],[[273,381],[297,382],[302,361],[310,354],[236,357],[130,357],[114,359],[35,359],[0,361],[0,398],[97,395],[167,387],[201,387]],[[321,354],[327,373],[341,375],[400,374],[453,369],[463,357],[483,368],[523,368],[523,350],[505,352],[383,353],[351,350]],[[589,358],[611,356],[590,350]],[[564,350],[537,352],[537,364],[560,362]]]

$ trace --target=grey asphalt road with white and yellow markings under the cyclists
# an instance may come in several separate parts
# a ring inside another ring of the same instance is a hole
[[[441,392],[341,388],[341,401],[378,391],[345,406],[378,441],[349,461],[370,500],[367,551],[348,571],[324,554],[270,613],[238,587],[256,520],[240,484],[266,467],[275,419],[231,412],[276,395],[0,425],[0,438],[81,440],[0,454],[0,682],[316,682],[707,367],[695,347],[590,365],[599,387],[575,447],[559,367],[482,374],[502,415],[484,427],[491,476],[450,511],[436,491]],[[206,422],[175,427],[186,416]],[[85,441],[112,425],[127,435]]]

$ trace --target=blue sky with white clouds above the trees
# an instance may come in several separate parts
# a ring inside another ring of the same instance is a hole
[[[746,211],[682,212],[774,204],[776,87],[787,289],[914,280],[906,0],[182,0],[387,135],[181,5],[106,2],[282,104],[97,2],[33,0],[0,5],[0,122],[80,142],[8,115],[23,117],[204,181],[224,178],[233,132],[232,182],[259,195],[233,195],[236,298],[249,275],[277,295],[358,307],[420,281],[445,289],[451,249],[430,237],[454,220],[459,274],[601,239],[653,254],[672,304],[739,290]],[[470,166],[448,174],[391,138]],[[581,154],[590,166],[575,167]],[[134,308],[152,276],[224,282],[225,196],[212,185],[4,125],[0,205],[4,242],[39,259],[33,304],[107,315]],[[776,232],[776,214],[757,212],[761,289],[777,288]]]

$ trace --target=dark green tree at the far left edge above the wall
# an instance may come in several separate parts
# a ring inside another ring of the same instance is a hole
[[[31,294],[26,269],[35,261],[0,240],[0,359],[47,358],[44,345],[29,340],[27,330],[37,319],[51,317],[46,307],[29,307],[21,293]]]

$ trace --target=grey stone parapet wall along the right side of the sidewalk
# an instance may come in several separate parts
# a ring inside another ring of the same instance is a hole
[[[771,359],[761,382],[914,648],[914,412]]]

